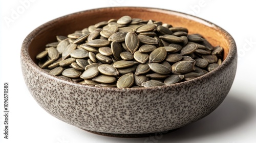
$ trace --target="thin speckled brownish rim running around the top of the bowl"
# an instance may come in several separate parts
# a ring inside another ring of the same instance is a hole
[[[224,33],[225,37],[229,41],[229,45],[228,45],[229,46],[229,52],[227,54],[227,57],[217,68],[215,68],[214,70],[210,71],[209,73],[207,73],[205,75],[202,75],[200,77],[197,77],[195,79],[175,83],[175,84],[172,84],[172,85],[163,85],[163,86],[156,86],[156,87],[139,87],[139,88],[99,87],[99,86],[94,86],[94,85],[87,85],[87,84],[77,83],[77,82],[73,82],[73,81],[68,81],[68,80],[59,78],[57,76],[50,75],[47,71],[40,68],[31,59],[31,57],[29,55],[29,52],[28,52],[28,47],[29,47],[31,41],[33,40],[34,36],[38,35],[39,30],[44,29],[46,27],[49,27],[49,26],[51,26],[51,23],[54,23],[55,21],[58,21],[59,19],[63,19],[67,16],[73,16],[73,15],[77,15],[79,13],[97,11],[97,10],[104,10],[104,9],[113,9],[113,8],[114,9],[133,8],[133,9],[157,10],[157,11],[172,13],[176,16],[179,16],[179,17],[182,16],[182,17],[185,17],[187,19],[194,20],[194,21],[196,20],[197,22],[200,22],[200,23],[202,23],[203,25],[205,25],[207,27],[214,28],[214,29],[219,30],[219,31]],[[194,15],[186,14],[186,13],[179,12],[179,11],[174,11],[174,10],[169,10],[169,9],[161,9],[161,8],[154,8],[154,7],[129,7],[129,6],[125,6],[125,7],[102,7],[102,8],[88,9],[88,10],[83,10],[83,11],[78,11],[78,12],[66,14],[66,15],[57,17],[55,19],[52,19],[50,21],[47,21],[47,22],[43,23],[42,25],[40,25],[39,27],[37,27],[33,31],[31,31],[26,36],[26,38],[24,39],[24,41],[22,43],[20,58],[24,58],[24,60],[26,59],[27,64],[30,64],[38,73],[41,73],[42,75],[44,75],[44,76],[46,76],[50,79],[57,80],[58,82],[62,82],[62,83],[68,84],[68,85],[79,86],[81,88],[108,89],[108,90],[113,90],[113,91],[122,91],[122,90],[133,91],[133,90],[159,89],[159,88],[167,88],[167,87],[169,88],[169,87],[175,87],[175,86],[183,86],[185,84],[194,83],[194,82],[197,82],[197,81],[200,81],[200,80],[203,80],[203,79],[207,79],[208,77],[214,76],[215,74],[218,73],[218,71],[227,67],[232,62],[232,60],[237,60],[237,45],[236,45],[236,42],[234,41],[233,37],[226,30],[224,30],[223,28],[217,26],[216,24],[214,24],[214,23],[212,23],[208,20],[202,19],[202,18],[194,16]],[[236,64],[237,64],[237,61],[236,61]]]

